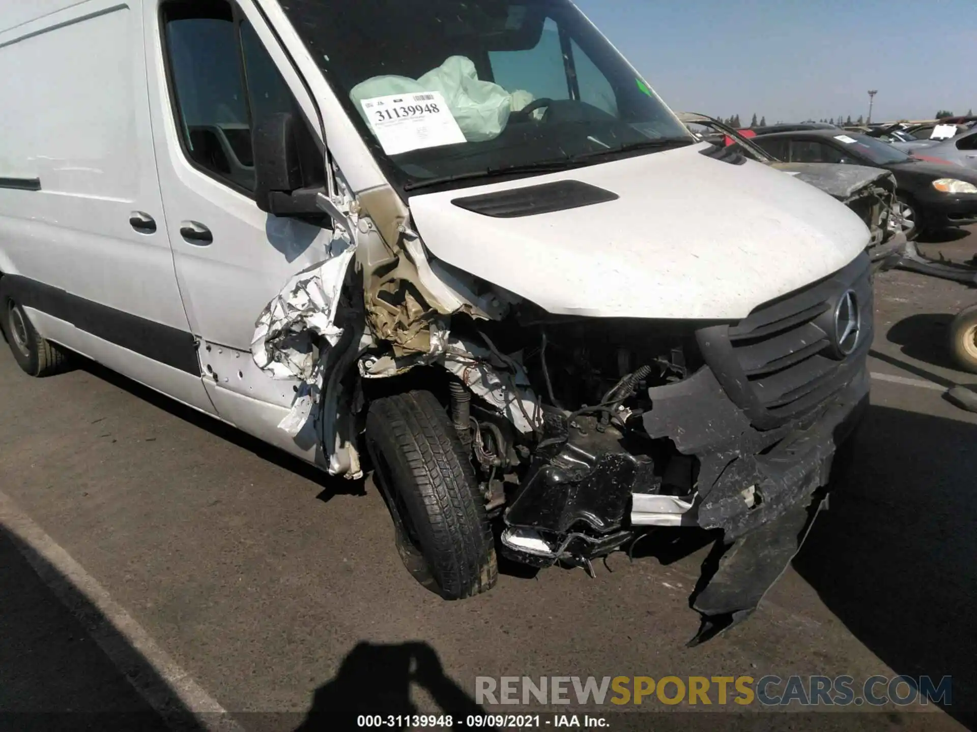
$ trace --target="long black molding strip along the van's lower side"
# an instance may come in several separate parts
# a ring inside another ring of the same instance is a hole
[[[124,310],[79,298],[43,282],[8,274],[0,279],[0,300],[11,297],[78,330],[121,346],[153,361],[199,377],[200,359],[190,333]]]

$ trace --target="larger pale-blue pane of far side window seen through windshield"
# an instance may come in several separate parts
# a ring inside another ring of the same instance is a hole
[[[569,100],[570,86],[560,31],[556,21],[548,18],[542,36],[529,51],[489,51],[495,83],[512,94],[520,90],[530,92],[533,99]]]

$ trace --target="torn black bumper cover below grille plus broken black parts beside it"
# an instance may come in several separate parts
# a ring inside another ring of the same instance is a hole
[[[540,567],[557,560],[586,566],[649,525],[721,529],[691,598],[701,629],[690,643],[742,622],[800,549],[825,500],[837,449],[865,416],[870,381],[860,361],[815,417],[763,431],[749,425],[707,368],[662,387],[678,393],[659,399],[648,422],[674,429],[669,415],[682,415],[683,431],[713,438],[696,445],[695,499],[644,493],[657,484],[640,462],[605,456],[582,479],[552,482],[550,475],[524,490],[506,513],[503,551]],[[731,417],[739,430],[730,431]],[[588,531],[577,530],[583,526]],[[595,536],[597,529],[604,533]]]

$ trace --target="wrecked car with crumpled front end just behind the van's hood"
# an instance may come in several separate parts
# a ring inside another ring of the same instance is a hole
[[[718,119],[698,112],[679,112],[678,118],[703,140],[723,147],[733,146],[746,157],[814,185],[845,204],[871,231],[868,251],[872,261],[885,259],[904,241],[893,220],[898,203],[896,179],[888,171],[873,166],[784,162],[751,142],[745,131]]]

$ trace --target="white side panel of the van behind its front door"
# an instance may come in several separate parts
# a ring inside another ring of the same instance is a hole
[[[0,13],[0,267],[91,303],[182,331],[152,130],[143,3],[88,0],[5,4]],[[134,214],[155,231],[137,230]],[[52,340],[81,352],[68,323]],[[43,333],[43,330],[42,330]],[[213,413],[199,379],[95,339],[93,357]]]

